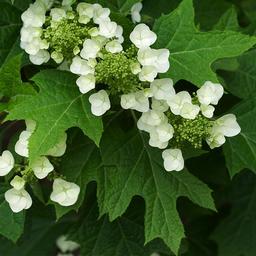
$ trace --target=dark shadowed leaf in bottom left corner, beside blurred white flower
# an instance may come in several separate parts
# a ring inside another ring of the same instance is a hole
[[[56,240],[66,235],[73,225],[73,219],[56,222],[54,211],[33,200],[33,207],[27,212],[25,230],[16,244],[0,238],[0,255],[45,256],[57,255]]]

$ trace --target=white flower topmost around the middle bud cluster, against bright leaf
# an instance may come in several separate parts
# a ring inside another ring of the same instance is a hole
[[[156,39],[156,34],[145,24],[137,25],[130,34],[131,42],[139,49],[151,46]]]

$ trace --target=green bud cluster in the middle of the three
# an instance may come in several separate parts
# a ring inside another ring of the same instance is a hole
[[[136,62],[135,56],[133,47],[121,53],[104,53],[95,67],[97,83],[107,85],[112,95],[143,89],[144,83],[131,71],[131,65]]]

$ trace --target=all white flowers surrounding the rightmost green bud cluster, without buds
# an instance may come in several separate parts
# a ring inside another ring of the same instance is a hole
[[[144,96],[141,96],[143,103],[140,100],[138,104],[136,97],[138,98],[139,93]],[[223,93],[224,90],[220,84],[207,81],[197,91],[196,98],[199,104],[194,104],[187,91],[176,93],[172,80],[164,78],[154,80],[147,91],[148,98],[152,98],[151,108],[145,92],[123,95],[121,105],[126,109],[136,109],[143,112],[137,123],[138,128],[149,133],[150,146],[165,149],[175,134],[175,129],[169,123],[170,120],[166,115],[168,111],[188,120],[194,120],[201,112],[204,117],[210,120],[215,110],[212,105],[218,104]],[[212,122],[210,135],[206,138],[206,142],[211,148],[221,146],[225,142],[225,136],[236,136],[241,131],[233,114],[225,115]],[[162,157],[167,171],[180,171],[184,168],[184,159],[180,149],[164,150]]]

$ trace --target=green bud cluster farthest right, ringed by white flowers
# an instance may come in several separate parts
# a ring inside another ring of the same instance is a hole
[[[168,113],[170,123],[174,128],[173,143],[182,148],[189,143],[196,149],[202,148],[202,142],[209,136],[212,121],[199,114],[194,120],[185,119]]]

